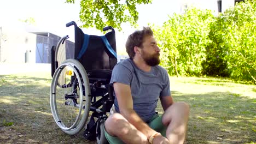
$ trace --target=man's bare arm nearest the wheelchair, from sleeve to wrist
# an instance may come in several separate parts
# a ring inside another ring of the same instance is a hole
[[[118,100],[119,110],[128,122],[134,125],[139,131],[146,135],[149,139],[150,136],[157,132],[150,128],[133,110],[133,101],[131,95],[131,88],[129,85],[114,82],[114,91]]]

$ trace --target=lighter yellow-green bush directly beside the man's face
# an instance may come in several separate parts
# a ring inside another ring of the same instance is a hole
[[[170,75],[200,75],[213,14],[210,10],[188,8],[185,14],[169,18],[162,27],[153,26],[162,49],[161,65]]]

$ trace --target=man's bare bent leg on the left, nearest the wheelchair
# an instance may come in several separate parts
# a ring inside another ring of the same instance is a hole
[[[105,122],[105,130],[125,143],[147,143],[147,136],[138,131],[120,113],[113,113]]]

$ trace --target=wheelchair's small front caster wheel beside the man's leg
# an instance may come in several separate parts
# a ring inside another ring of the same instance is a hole
[[[97,144],[107,144],[108,141],[105,137],[104,133],[104,120],[101,120],[97,123],[96,126],[96,139],[97,139]]]

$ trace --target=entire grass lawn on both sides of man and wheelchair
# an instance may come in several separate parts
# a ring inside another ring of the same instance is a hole
[[[96,143],[57,127],[50,82],[50,73],[0,75],[1,142]],[[256,142],[255,85],[211,77],[170,77],[170,85],[174,100],[190,105],[186,143]]]

